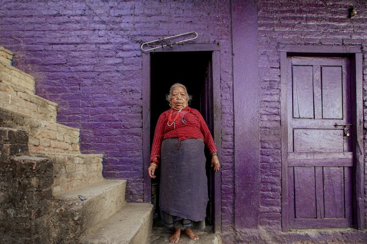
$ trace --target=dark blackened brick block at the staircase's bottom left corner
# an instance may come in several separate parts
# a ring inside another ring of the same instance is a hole
[[[48,238],[52,162],[26,155],[3,156],[0,160],[0,243],[35,243],[35,240]]]

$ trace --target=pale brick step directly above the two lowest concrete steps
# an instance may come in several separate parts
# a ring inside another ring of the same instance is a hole
[[[34,153],[33,155],[49,158],[53,162],[54,193],[103,180],[102,154]]]

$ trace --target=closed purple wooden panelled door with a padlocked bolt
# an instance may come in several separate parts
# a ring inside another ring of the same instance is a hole
[[[351,226],[349,61],[291,57],[288,68],[289,227]]]

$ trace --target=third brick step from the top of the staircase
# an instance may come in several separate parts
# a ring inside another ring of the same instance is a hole
[[[56,122],[57,103],[37,95],[16,91],[0,81],[0,107],[26,114],[32,118]]]

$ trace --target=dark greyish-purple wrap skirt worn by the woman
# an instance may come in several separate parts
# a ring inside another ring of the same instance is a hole
[[[206,217],[208,201],[204,141],[165,139],[161,146],[161,210],[194,222]],[[166,223],[168,224],[168,223]]]

